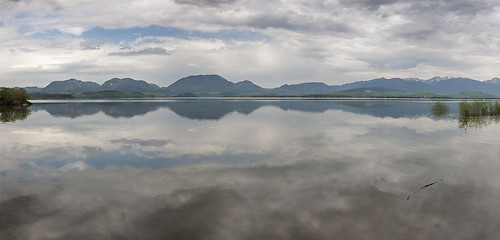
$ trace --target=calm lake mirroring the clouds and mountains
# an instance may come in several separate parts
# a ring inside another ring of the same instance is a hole
[[[500,125],[431,103],[38,101],[2,113],[0,239],[497,239]]]

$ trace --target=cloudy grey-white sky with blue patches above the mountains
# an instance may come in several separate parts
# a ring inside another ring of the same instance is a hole
[[[496,0],[0,0],[0,85],[500,77]]]

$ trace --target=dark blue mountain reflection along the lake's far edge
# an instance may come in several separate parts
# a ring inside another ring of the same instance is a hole
[[[177,115],[197,120],[219,120],[230,113],[250,114],[266,106],[282,110],[323,113],[342,110],[375,117],[419,117],[429,114],[426,104],[412,101],[353,101],[353,100],[171,100],[153,102],[79,102],[36,104],[33,111],[47,111],[52,116],[77,118],[99,112],[111,116],[134,117],[167,108]]]

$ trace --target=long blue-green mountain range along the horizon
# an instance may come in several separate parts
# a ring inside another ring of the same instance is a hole
[[[160,87],[143,80],[113,78],[102,85],[68,79],[51,82],[44,88],[25,87],[30,93],[79,94],[102,91],[125,93],[149,93],[164,96],[307,96],[342,93],[399,93],[453,95],[477,93],[500,95],[500,78],[478,81],[461,77],[377,78],[342,85],[327,85],[322,82],[285,84],[277,88],[262,88],[251,81],[231,82],[219,75],[193,75],[181,78],[168,87]]]

